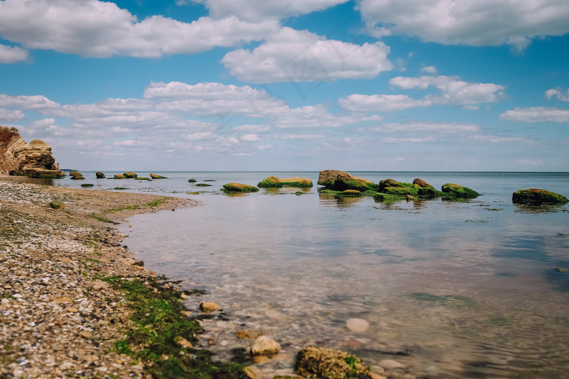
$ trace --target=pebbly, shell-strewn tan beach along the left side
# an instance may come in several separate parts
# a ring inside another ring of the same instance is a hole
[[[113,223],[198,203],[2,179],[0,377],[144,377],[144,363],[116,352],[131,311],[100,277],[156,274],[136,265]]]

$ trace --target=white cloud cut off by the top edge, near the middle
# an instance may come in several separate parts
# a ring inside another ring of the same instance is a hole
[[[346,1],[348,0],[193,0],[195,3],[204,4],[214,18],[235,15],[251,22],[309,14]]]

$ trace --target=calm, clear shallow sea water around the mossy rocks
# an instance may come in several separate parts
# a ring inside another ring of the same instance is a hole
[[[286,370],[299,348],[317,345],[356,353],[368,365],[395,359],[426,378],[569,378],[569,207],[511,203],[521,188],[569,196],[567,173],[351,172],[482,193],[397,203],[323,196],[317,186],[302,195],[296,188],[219,192],[230,181],[256,185],[270,175],[316,184],[318,172],[159,172],[169,179],[155,181],[83,174],[85,181],[58,185],[121,186],[203,203],[137,215],[121,229],[148,269],[206,290],[188,306],[223,306],[225,316],[204,320],[203,345],[214,338],[220,359],[248,346],[234,336],[246,328],[284,347],[265,368]],[[351,331],[349,319],[368,327]]]

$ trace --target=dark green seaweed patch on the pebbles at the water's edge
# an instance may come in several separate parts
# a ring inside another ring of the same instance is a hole
[[[132,309],[132,326],[125,328],[126,338],[115,348],[135,360],[143,361],[145,373],[152,378],[245,379],[243,365],[218,363],[209,351],[191,347],[201,333],[200,324],[182,312],[182,294],[168,282],[153,277],[129,279],[102,277],[114,289],[124,293]],[[188,343],[181,343],[181,341]]]

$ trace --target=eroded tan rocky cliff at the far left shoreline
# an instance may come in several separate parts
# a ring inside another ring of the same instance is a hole
[[[0,127],[0,171],[30,178],[60,178],[51,147],[39,139],[29,144],[16,128]]]

